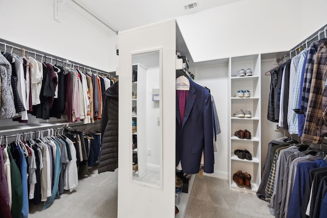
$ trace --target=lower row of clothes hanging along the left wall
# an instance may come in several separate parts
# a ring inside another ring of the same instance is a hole
[[[44,202],[46,209],[64,190],[73,191],[87,171],[87,160],[94,160],[92,166],[98,163],[100,141],[101,133],[66,130],[55,135],[48,130],[48,136],[39,131],[38,138],[31,134],[21,140],[17,134],[16,141],[2,144],[0,190],[11,216],[28,217],[29,204]]]

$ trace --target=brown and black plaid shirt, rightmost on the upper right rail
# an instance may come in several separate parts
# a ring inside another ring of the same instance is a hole
[[[321,143],[327,133],[327,39],[320,42],[312,73],[305,128],[302,140]],[[323,112],[324,111],[324,112]],[[324,118],[323,118],[324,115]]]

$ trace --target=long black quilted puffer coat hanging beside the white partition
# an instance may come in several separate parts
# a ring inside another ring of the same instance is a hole
[[[101,152],[98,173],[118,168],[118,82],[103,94]]]

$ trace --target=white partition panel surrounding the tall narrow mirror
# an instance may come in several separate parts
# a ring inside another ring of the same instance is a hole
[[[175,198],[175,20],[119,33],[119,175],[118,217],[174,217]],[[132,52],[162,47],[161,189],[132,182],[131,101]],[[129,115],[130,114],[130,115]]]

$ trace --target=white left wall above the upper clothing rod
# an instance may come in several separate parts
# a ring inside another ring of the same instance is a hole
[[[69,2],[69,1],[68,1]],[[65,5],[61,23],[54,1],[0,1],[0,38],[105,71],[115,71],[116,35],[92,25]],[[110,60],[110,61],[108,61]]]

